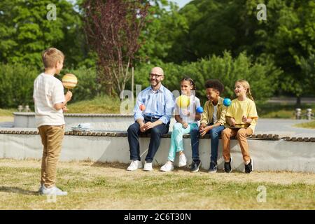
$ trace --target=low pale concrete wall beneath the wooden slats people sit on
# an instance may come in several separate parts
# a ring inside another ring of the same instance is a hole
[[[144,162],[149,138],[140,139],[141,159]],[[200,139],[202,168],[209,169],[210,139]],[[191,162],[190,139],[183,139],[188,163]],[[167,160],[170,139],[162,139],[154,165]],[[219,145],[218,168],[223,169],[222,146]],[[257,171],[292,171],[315,173],[315,143],[293,141],[250,140],[251,157]],[[38,134],[0,134],[0,158],[41,159],[42,146]],[[232,168],[244,172],[241,150],[236,140],[231,142]],[[68,136],[64,138],[61,161],[92,160],[129,163],[127,137]],[[178,156],[175,165],[178,164]],[[127,167],[127,166],[126,166]]]

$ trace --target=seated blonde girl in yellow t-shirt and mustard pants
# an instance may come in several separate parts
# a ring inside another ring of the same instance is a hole
[[[253,159],[249,155],[246,137],[253,134],[258,115],[251,95],[251,87],[246,80],[237,80],[235,83],[235,94],[237,99],[232,100],[232,104],[228,107],[225,115],[229,127],[222,132],[224,169],[227,173],[232,172],[230,138],[236,136],[239,146],[241,146],[245,172],[249,174],[253,171]]]

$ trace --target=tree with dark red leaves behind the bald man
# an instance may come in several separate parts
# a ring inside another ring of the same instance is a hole
[[[144,0],[86,0],[85,33],[98,55],[98,80],[107,94],[125,90],[150,4]]]

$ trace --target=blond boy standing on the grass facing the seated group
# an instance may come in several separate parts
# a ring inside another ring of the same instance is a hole
[[[72,93],[66,92],[62,82],[55,78],[64,63],[64,54],[56,48],[48,48],[42,53],[45,71],[34,81],[36,127],[41,135],[43,158],[41,163],[40,195],[67,195],[55,186],[57,162],[64,138],[64,114],[66,102]]]

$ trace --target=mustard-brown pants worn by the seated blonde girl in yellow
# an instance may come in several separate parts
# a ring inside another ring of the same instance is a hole
[[[247,137],[253,134],[251,127],[240,128],[240,129],[230,129],[225,128],[222,132],[222,141],[223,141],[223,158],[225,161],[229,161],[231,158],[230,155],[230,139],[231,137],[237,137],[239,141],[239,146],[241,146],[241,154],[243,155],[244,162],[251,160],[249,156]]]

